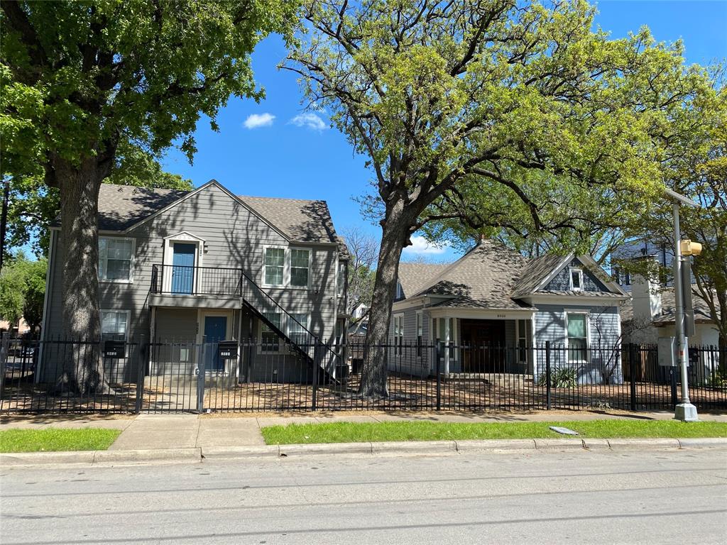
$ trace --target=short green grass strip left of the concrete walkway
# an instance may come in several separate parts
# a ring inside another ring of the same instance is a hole
[[[121,429],[8,429],[0,432],[0,452],[105,451]]]

